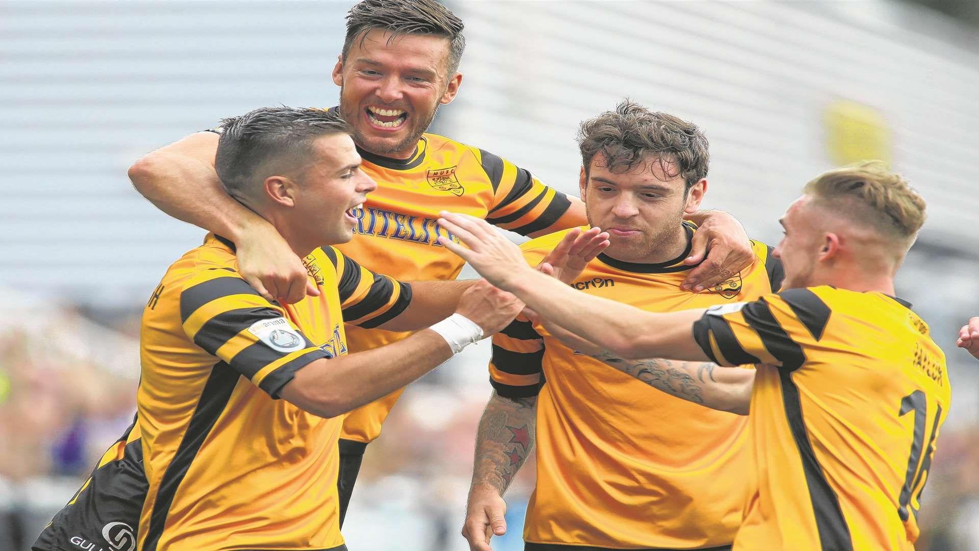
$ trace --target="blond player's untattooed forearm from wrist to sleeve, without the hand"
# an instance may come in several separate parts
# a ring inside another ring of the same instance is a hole
[[[707,360],[690,326],[703,310],[653,314],[591,296],[534,270],[521,270],[506,290],[545,320],[622,357]]]

